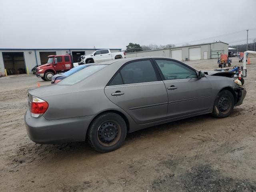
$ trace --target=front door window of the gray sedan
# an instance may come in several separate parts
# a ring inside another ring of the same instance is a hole
[[[197,78],[194,70],[172,60],[156,60],[165,80]]]

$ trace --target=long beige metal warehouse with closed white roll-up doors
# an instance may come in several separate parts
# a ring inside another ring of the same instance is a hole
[[[143,56],[164,56],[176,60],[200,60],[218,58],[220,54],[228,54],[228,44],[224,42],[214,42],[206,44],[197,44],[181,46],[167,49],[149,50],[141,52],[127,53],[126,57]]]

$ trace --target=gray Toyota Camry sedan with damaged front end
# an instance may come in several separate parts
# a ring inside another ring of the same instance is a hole
[[[229,116],[246,96],[239,83],[164,57],[101,62],[28,90],[26,130],[39,144],[87,140],[110,152],[142,128],[207,113]]]

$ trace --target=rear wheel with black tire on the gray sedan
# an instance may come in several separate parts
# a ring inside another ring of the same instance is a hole
[[[124,119],[112,112],[101,114],[88,128],[87,140],[96,151],[107,153],[121,147],[127,134]]]

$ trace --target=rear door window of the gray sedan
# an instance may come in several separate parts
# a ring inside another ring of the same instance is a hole
[[[120,70],[120,73],[124,84],[157,81],[156,72],[150,60],[128,63]]]

